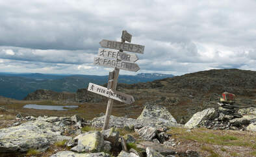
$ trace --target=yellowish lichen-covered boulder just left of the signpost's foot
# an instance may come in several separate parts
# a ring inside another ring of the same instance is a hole
[[[71,151],[77,152],[100,152],[104,146],[103,135],[99,131],[91,131],[74,138],[78,139],[77,146]]]

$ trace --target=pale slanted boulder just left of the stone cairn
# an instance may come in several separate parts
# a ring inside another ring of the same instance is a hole
[[[204,125],[205,120],[215,119],[217,117],[217,112],[214,108],[207,108],[201,112],[197,112],[192,116],[192,118],[185,124],[186,128],[196,128],[200,125]]]

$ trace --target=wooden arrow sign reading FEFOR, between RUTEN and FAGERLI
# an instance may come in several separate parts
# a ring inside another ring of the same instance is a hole
[[[123,60],[127,62],[136,62],[138,60],[138,56],[136,54],[129,54],[125,52],[120,52],[116,49],[101,49],[97,52],[98,56],[105,58],[118,58],[118,60]]]

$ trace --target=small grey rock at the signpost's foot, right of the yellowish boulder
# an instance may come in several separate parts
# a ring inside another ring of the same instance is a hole
[[[104,140],[110,141],[113,145],[118,144],[119,132],[114,128],[109,128],[108,130],[102,130],[101,134],[104,136]]]

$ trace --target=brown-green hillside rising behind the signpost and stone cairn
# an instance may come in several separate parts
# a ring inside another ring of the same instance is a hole
[[[168,108],[177,121],[188,121],[198,111],[209,107],[217,108],[217,101],[224,91],[236,94],[238,108],[256,106],[255,81],[256,71],[213,69],[153,82],[118,84],[118,91],[133,95],[135,103],[123,104],[116,101],[113,113],[137,117],[144,107],[142,104],[157,103]],[[26,100],[42,100],[42,96],[40,99],[33,99],[36,93],[31,95]],[[107,100],[101,95],[87,92],[86,89],[78,90],[76,95],[79,95],[76,96],[76,102],[80,103],[106,103]],[[77,101],[77,97],[81,99]],[[105,109],[102,107],[98,110],[104,112]]]

